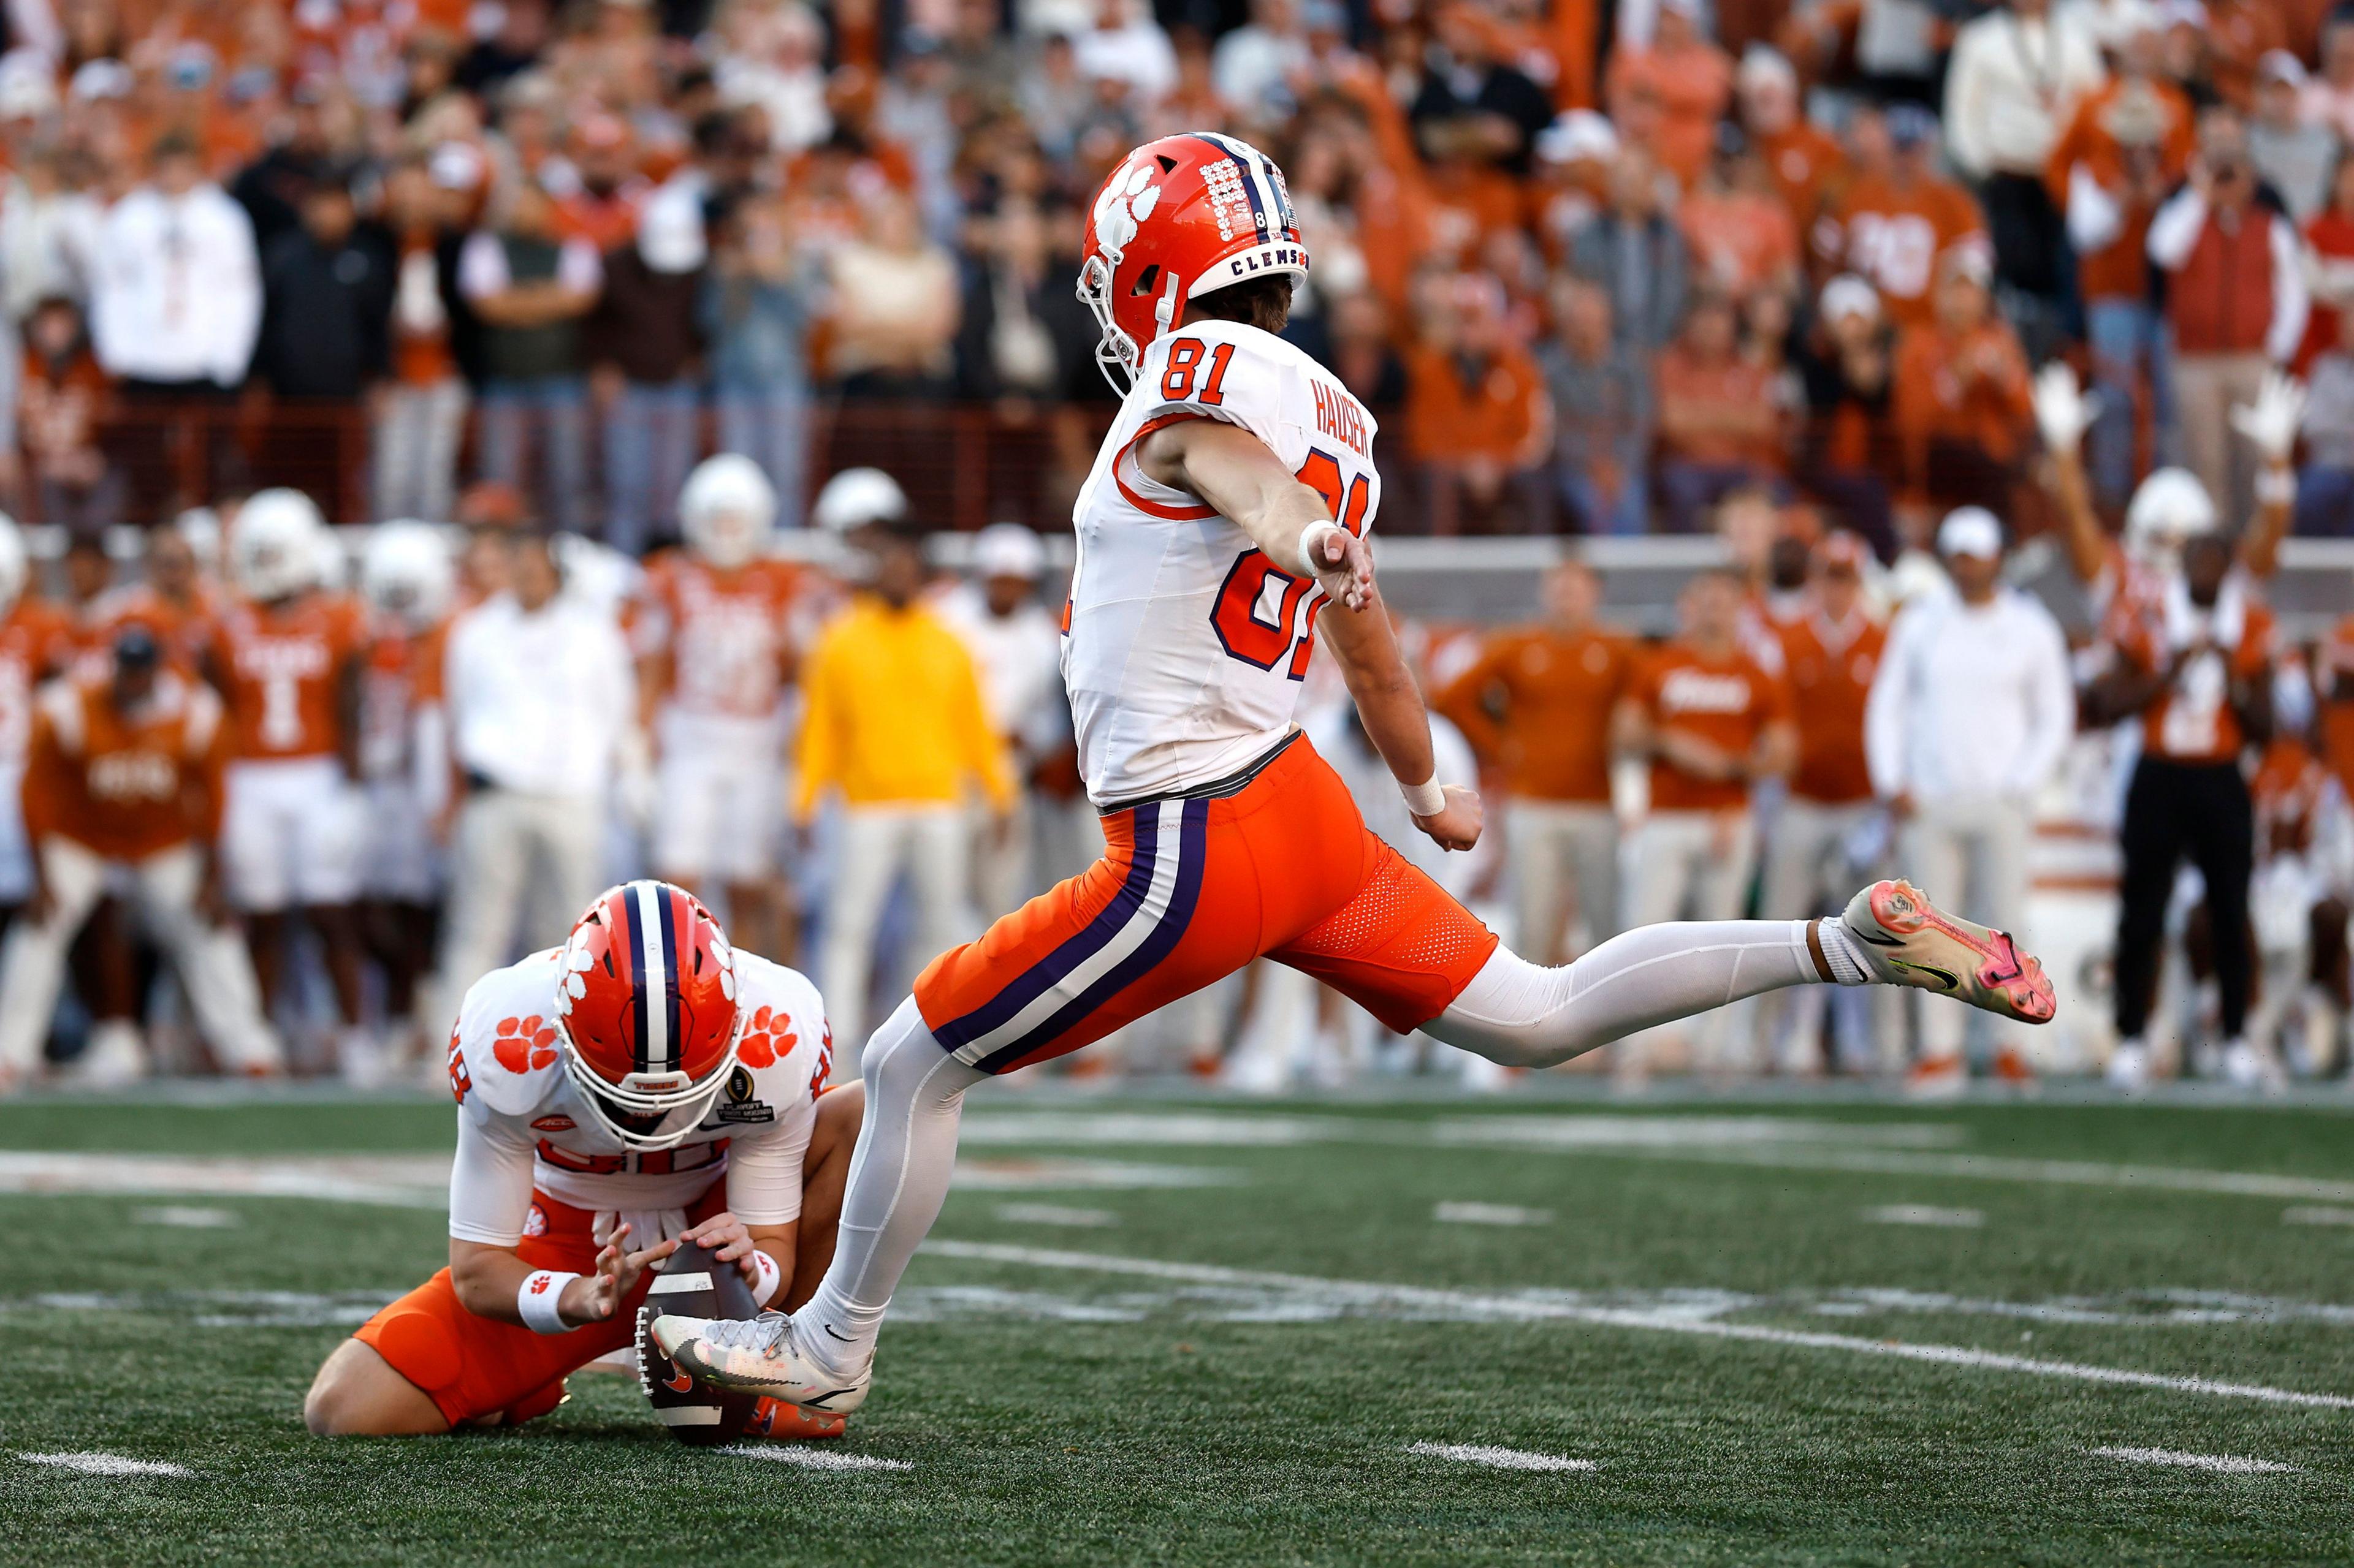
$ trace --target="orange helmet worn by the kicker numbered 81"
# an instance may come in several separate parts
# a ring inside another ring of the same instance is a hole
[[[1125,393],[1186,299],[1266,273],[1309,275],[1276,160],[1217,132],[1146,141],[1111,170],[1088,212],[1078,297],[1104,330],[1095,363]]]

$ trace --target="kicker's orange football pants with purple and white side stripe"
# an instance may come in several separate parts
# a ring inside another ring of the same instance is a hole
[[[1003,1074],[1073,1052],[1252,958],[1408,1031],[1497,944],[1365,826],[1304,735],[1224,786],[1104,812],[1104,843],[916,979],[925,1026],[960,1062]]]

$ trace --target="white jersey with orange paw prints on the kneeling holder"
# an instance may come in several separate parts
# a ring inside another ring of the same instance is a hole
[[[727,1088],[676,1149],[624,1147],[581,1104],[558,1059],[548,1017],[563,949],[546,949],[473,982],[450,1036],[457,1163],[450,1234],[516,1245],[534,1224],[532,1191],[586,1210],[673,1215],[727,1180],[744,1224],[800,1217],[800,1161],[831,1069],[824,1003],[796,970],[737,949],[737,1008],[746,1012]],[[673,1111],[678,1116],[680,1111]]]

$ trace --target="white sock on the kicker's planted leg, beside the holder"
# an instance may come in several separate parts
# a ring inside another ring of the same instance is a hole
[[[840,1373],[873,1356],[890,1293],[949,1196],[965,1090],[989,1078],[932,1038],[913,996],[866,1041],[859,1067],[866,1118],[850,1154],[833,1264],[793,1314],[803,1349]]]

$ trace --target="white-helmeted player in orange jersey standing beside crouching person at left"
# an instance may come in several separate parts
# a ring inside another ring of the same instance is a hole
[[[325,949],[344,1019],[337,1062],[372,1078],[381,1059],[360,1024],[360,605],[320,586],[327,523],[299,490],[264,490],[228,530],[240,600],[214,631],[207,676],[228,699],[221,871],[245,913],[261,996],[278,1005],[290,916]]]

